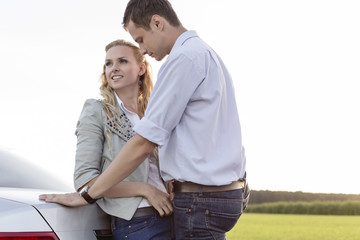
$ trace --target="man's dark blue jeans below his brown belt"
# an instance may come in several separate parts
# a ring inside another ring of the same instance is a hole
[[[223,240],[249,200],[249,188],[214,193],[175,193],[174,228],[177,240]]]

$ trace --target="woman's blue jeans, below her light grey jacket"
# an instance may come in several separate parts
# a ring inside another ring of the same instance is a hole
[[[171,217],[160,217],[158,212],[129,221],[113,217],[112,228],[114,240],[171,239]]]

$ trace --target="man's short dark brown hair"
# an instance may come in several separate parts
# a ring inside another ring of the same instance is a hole
[[[125,9],[123,26],[126,29],[131,20],[136,27],[150,30],[154,14],[165,18],[174,27],[181,24],[168,0],[130,0]]]

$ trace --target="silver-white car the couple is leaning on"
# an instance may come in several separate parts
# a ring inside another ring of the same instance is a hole
[[[0,150],[0,240],[112,239],[110,217],[96,204],[64,207],[38,200],[72,192],[40,168]]]

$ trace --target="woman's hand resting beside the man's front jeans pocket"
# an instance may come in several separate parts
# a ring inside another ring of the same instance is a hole
[[[168,193],[159,190],[151,184],[145,184],[143,196],[159,212],[160,216],[169,216],[173,212],[173,205]]]

